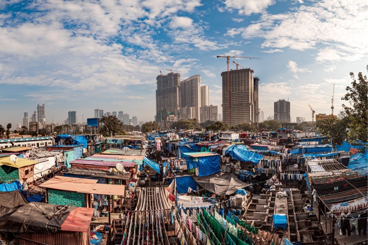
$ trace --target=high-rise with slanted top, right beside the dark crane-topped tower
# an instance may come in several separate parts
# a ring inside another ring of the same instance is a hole
[[[194,75],[180,82],[180,107],[193,107],[194,118],[199,121],[199,107],[201,105],[201,76]],[[180,115],[182,118],[182,116]]]

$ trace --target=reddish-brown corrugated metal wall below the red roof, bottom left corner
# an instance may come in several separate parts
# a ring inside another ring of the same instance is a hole
[[[19,233],[18,245],[40,245],[40,242],[48,245],[89,245],[89,232],[60,231],[56,233]],[[25,238],[25,239],[21,239]],[[36,242],[32,242],[36,241]]]

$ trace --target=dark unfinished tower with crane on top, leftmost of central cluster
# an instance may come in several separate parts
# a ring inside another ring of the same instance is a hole
[[[156,77],[156,121],[164,121],[167,114],[174,114],[180,107],[180,74],[170,72]],[[166,115],[163,111],[165,111]]]

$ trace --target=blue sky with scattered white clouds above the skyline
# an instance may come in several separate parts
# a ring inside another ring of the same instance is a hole
[[[46,121],[94,109],[151,121],[156,76],[201,75],[222,113],[221,72],[231,59],[259,77],[265,119],[289,99],[291,121],[335,113],[350,72],[367,73],[365,0],[0,1],[0,124],[22,124],[37,104]],[[235,69],[235,64],[230,64]]]

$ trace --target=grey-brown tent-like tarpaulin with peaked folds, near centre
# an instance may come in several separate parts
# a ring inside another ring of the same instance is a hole
[[[218,172],[202,178],[193,178],[201,187],[217,195],[231,195],[238,189],[251,185],[239,180],[234,173],[227,172]]]

